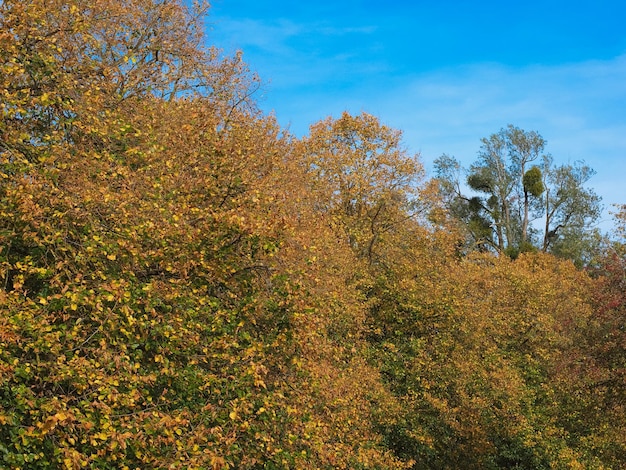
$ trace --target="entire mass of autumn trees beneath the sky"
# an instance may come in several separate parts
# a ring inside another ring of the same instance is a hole
[[[626,206],[514,126],[296,138],[208,13],[0,3],[0,467],[622,468]]]

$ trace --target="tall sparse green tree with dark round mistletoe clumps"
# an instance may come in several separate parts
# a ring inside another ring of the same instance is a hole
[[[465,193],[465,170],[454,157],[436,160],[448,210],[476,245],[513,257],[535,249],[584,257],[589,227],[600,216],[600,198],[585,187],[593,170],[581,163],[555,166],[545,146],[537,132],[512,125],[483,138],[478,160],[466,172],[473,195]],[[543,230],[533,224],[540,219]]]

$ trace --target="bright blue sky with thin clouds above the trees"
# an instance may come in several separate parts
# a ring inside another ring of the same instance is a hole
[[[432,175],[435,158],[468,166],[482,137],[513,124],[556,163],[594,168],[610,208],[626,203],[625,25],[623,0],[214,0],[207,34],[243,50],[261,107],[297,136],[368,112]]]

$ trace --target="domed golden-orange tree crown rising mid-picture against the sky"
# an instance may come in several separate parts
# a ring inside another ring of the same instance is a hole
[[[407,218],[418,215],[422,166],[401,133],[370,114],[325,119],[303,141],[307,167],[330,213],[360,258],[374,262],[377,246]]]

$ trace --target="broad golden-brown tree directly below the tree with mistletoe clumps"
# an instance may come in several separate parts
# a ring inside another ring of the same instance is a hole
[[[419,246],[377,305],[391,321],[372,335],[402,403],[381,423],[390,448],[413,468],[602,468],[584,444],[594,433],[567,422],[586,405],[562,388],[580,383],[562,367],[592,321],[593,281],[549,254],[444,259]],[[596,444],[611,442],[601,435]]]

